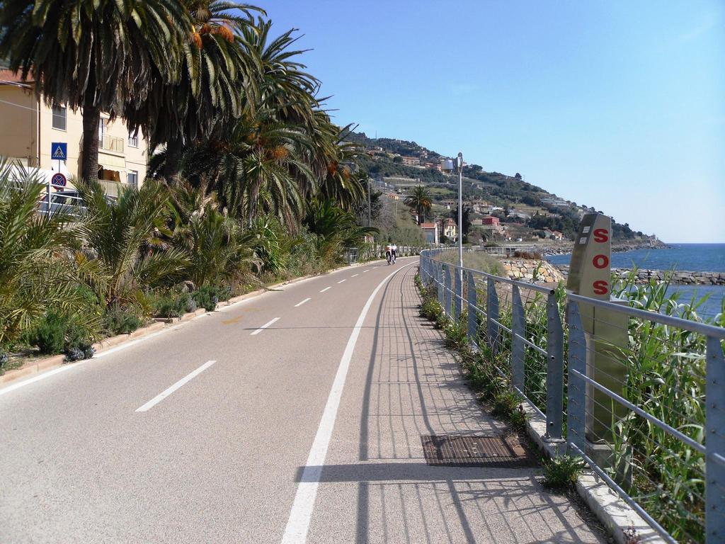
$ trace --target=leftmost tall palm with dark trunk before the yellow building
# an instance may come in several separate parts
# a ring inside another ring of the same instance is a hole
[[[178,78],[191,17],[176,0],[6,0],[0,57],[48,104],[83,110],[81,178],[98,178],[101,111],[144,101],[154,70]]]

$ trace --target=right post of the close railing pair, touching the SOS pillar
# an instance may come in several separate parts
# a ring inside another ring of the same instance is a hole
[[[569,358],[568,358],[568,395],[566,403],[566,440],[579,450],[587,452],[586,432],[587,387],[584,380],[574,372],[587,375],[587,335],[581,323],[579,305],[575,301],[568,303]]]

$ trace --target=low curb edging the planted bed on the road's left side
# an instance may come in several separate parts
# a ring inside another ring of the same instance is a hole
[[[326,276],[329,273],[337,272],[344,270],[345,268],[355,268],[356,266],[363,266],[363,265],[369,265],[371,263],[376,263],[375,260],[370,260],[365,263],[353,263],[352,265],[345,265],[341,266],[339,268],[334,268],[330,271],[327,271],[325,273],[321,274],[310,274],[308,276],[301,276],[299,278],[293,278],[288,279],[285,281],[280,281],[277,284],[268,285],[266,287],[263,287],[262,289],[257,289],[256,291],[251,291],[249,293],[240,294],[238,297],[233,297],[229,300],[219,302],[217,305],[216,310],[219,310],[220,308],[225,308],[227,306],[231,306],[233,304],[236,304],[236,302],[241,302],[242,300],[248,300],[250,298],[258,297],[260,294],[263,294],[265,292],[268,292],[272,289],[275,289],[276,287],[283,287],[284,285],[290,285],[290,284],[296,284],[299,281],[305,281],[307,279],[317,278],[319,276]],[[215,311],[216,311],[215,310]],[[93,347],[96,350],[96,353],[102,353],[105,350],[108,350],[111,347],[116,347],[117,345],[121,345],[125,342],[130,342],[131,340],[136,340],[141,337],[145,337],[148,334],[152,334],[156,331],[160,331],[162,329],[170,328],[169,325],[178,326],[179,323],[188,323],[189,321],[192,321],[194,318],[197,318],[199,316],[204,315],[204,313],[207,313],[207,310],[204,310],[204,308],[199,308],[199,310],[196,310],[194,312],[185,313],[181,318],[175,319],[175,318],[154,318],[154,323],[147,325],[145,327],[141,327],[141,329],[136,329],[130,334],[117,334],[115,337],[108,337],[102,339],[100,342],[96,342]],[[49,371],[54,368],[58,368],[59,366],[63,366],[64,364],[70,364],[65,363],[65,355],[52,355],[51,357],[46,357],[43,359],[34,360],[32,363],[25,363],[25,365],[21,366],[20,368],[15,368],[14,370],[9,370],[2,374],[0,376],[0,384],[5,385],[9,384],[11,382],[15,382],[18,379],[27,378],[28,376],[33,376],[35,374],[40,374],[44,371]]]

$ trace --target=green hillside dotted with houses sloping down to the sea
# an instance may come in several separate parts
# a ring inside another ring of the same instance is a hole
[[[434,215],[449,215],[444,202],[457,198],[457,179],[439,171],[445,158],[438,152],[426,149],[415,141],[389,138],[368,138],[365,133],[352,132],[347,137],[365,149],[358,162],[372,178],[390,184],[420,183],[429,187],[434,199]],[[463,168],[463,198],[469,211],[469,221],[484,215],[495,215],[506,226],[508,236],[543,237],[544,230],[560,231],[565,239],[573,239],[581,215],[595,211],[594,207],[558,197],[539,186],[523,180],[521,174],[508,176],[499,172],[488,172],[480,165],[465,165]],[[391,179],[392,178],[392,179]],[[474,203],[485,202],[488,212]],[[500,208],[500,210],[492,210]],[[606,213],[602,212],[600,213]],[[479,212],[479,213],[476,213]],[[471,228],[476,234],[476,227]],[[480,234],[480,233],[479,233]],[[613,238],[649,244],[654,237],[634,231],[628,223],[613,223]],[[486,236],[481,236],[486,239]],[[476,236],[473,236],[476,242]]]

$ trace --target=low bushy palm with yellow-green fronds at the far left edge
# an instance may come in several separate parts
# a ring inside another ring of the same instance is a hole
[[[71,314],[86,307],[68,255],[79,228],[57,214],[38,214],[45,184],[37,173],[0,162],[0,355],[48,310]],[[98,319],[80,312],[78,325],[95,330]]]

